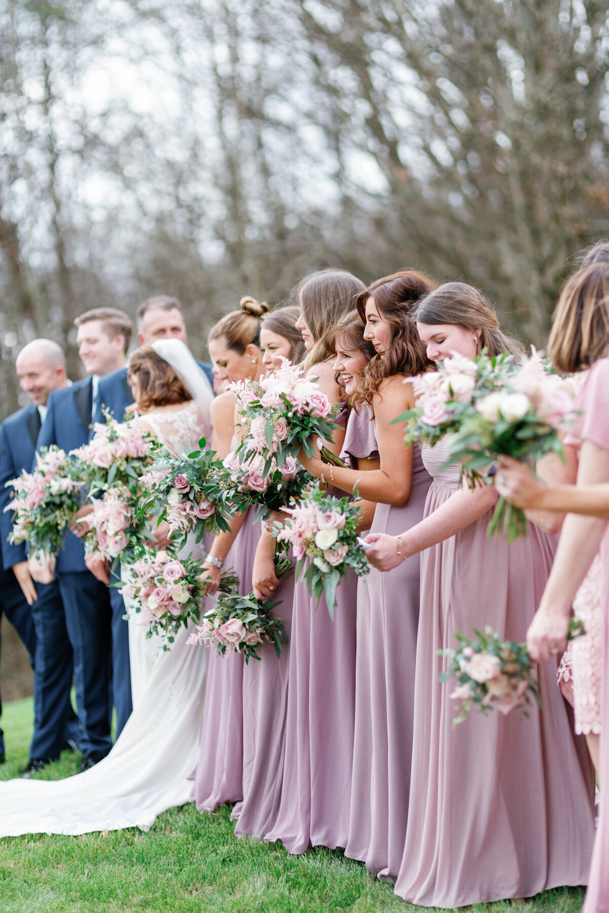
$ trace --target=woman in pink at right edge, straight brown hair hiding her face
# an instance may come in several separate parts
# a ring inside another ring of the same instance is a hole
[[[559,371],[587,371],[576,405],[582,413],[575,437],[581,442],[577,484],[541,486],[527,467],[503,460],[495,482],[499,493],[522,509],[566,513],[550,579],[527,635],[533,660],[553,667],[565,647],[571,606],[600,546],[601,609],[604,613],[604,670],[601,692],[599,778],[601,808],[593,862],[583,910],[605,913],[609,897],[609,262],[607,246],[598,259],[570,278],[562,289],[548,353]],[[598,248],[594,253],[598,253]],[[588,370],[590,369],[590,370]],[[544,662],[545,661],[545,662]],[[575,844],[573,843],[574,847]]]

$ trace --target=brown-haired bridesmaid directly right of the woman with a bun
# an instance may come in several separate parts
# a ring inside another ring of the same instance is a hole
[[[297,307],[280,308],[267,315],[260,331],[262,367],[266,372],[281,366],[281,357],[298,363],[304,352],[296,329]],[[237,803],[235,833],[263,837],[275,821],[281,796],[288,704],[289,645],[291,640],[294,574],[278,581],[273,566],[274,540],[263,531],[257,545],[252,573],[257,599],[280,604],[274,610],[283,621],[288,644],[279,656],[275,645],[257,648],[260,661],[250,660],[243,670],[243,802]]]

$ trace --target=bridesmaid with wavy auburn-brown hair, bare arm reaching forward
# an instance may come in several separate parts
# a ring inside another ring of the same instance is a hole
[[[397,532],[423,519],[431,484],[418,446],[404,447],[396,415],[415,404],[413,374],[427,368],[412,313],[435,289],[432,278],[402,270],[378,279],[357,297],[363,339],[373,348],[351,402],[371,409],[380,465],[362,473],[332,467],[337,488],[376,502],[372,530]],[[309,471],[329,475],[319,459],[300,457]],[[373,875],[395,877],[404,851],[413,739],[418,555],[389,577],[372,569],[357,599],[355,736],[352,803],[346,855]],[[399,700],[396,696],[399,695]]]

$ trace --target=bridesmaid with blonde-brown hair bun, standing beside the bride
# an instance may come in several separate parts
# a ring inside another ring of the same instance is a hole
[[[239,310],[226,314],[212,327],[208,348],[215,379],[231,383],[260,376],[260,330],[267,312],[266,302],[242,298]],[[240,416],[230,391],[216,396],[211,417],[212,447],[218,456],[224,457],[232,449],[239,431]],[[234,568],[239,578],[239,593],[245,595],[252,588],[260,523],[252,524],[248,510],[236,516],[230,527],[230,532],[220,533],[211,540],[204,564],[210,576],[210,595],[217,590],[223,564]],[[193,798],[199,811],[213,812],[219,805],[236,803],[242,798],[243,667],[243,654],[220,657],[209,650],[201,754],[194,772]]]

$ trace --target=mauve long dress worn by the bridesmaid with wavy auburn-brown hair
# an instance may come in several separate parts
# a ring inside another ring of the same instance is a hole
[[[414,445],[404,507],[377,504],[371,532],[391,536],[423,519],[431,477]],[[372,875],[395,878],[404,855],[415,713],[418,554],[382,573],[372,568],[357,593],[355,742],[349,843],[345,855]]]

